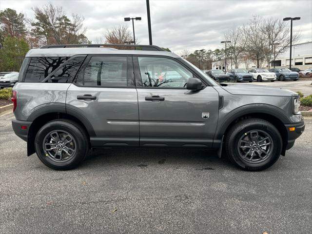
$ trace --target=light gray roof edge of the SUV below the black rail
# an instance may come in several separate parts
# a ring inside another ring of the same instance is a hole
[[[114,48],[104,47],[75,47],[75,48],[48,48],[48,49],[31,49],[25,57],[72,57],[74,55],[160,55],[173,58],[180,58],[172,52],[165,51],[142,51],[142,50],[117,50]]]

